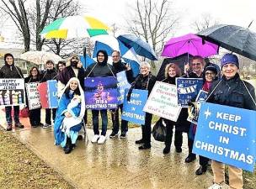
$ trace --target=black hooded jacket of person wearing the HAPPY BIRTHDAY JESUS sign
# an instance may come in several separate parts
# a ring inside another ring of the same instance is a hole
[[[24,78],[20,68],[15,66],[14,63],[11,66],[5,63],[0,72],[0,78]]]

